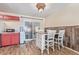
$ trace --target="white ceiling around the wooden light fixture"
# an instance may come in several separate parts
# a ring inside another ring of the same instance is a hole
[[[45,18],[61,11],[67,5],[66,3],[46,3],[44,12],[39,13],[35,3],[0,3],[0,12]]]

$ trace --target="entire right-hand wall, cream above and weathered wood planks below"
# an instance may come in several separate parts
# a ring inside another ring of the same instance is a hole
[[[57,14],[48,16],[45,27],[65,29],[64,45],[79,51],[79,4],[69,4]]]

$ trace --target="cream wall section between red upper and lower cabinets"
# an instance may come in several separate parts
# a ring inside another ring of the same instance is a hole
[[[3,21],[0,20],[0,33],[5,30],[5,28],[15,29],[16,32],[19,32],[20,21]]]

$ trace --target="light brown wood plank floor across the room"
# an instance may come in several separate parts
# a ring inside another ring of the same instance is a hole
[[[0,55],[41,55],[40,49],[35,46],[35,41],[28,42],[22,45],[15,46],[7,46],[0,48]],[[46,51],[42,55],[48,55]],[[58,50],[55,48],[53,52],[50,49],[50,55],[77,55],[76,53],[68,50],[66,48],[62,48]]]

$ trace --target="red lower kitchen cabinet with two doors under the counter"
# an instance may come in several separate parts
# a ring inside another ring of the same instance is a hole
[[[1,37],[2,46],[19,44],[19,33],[4,33]]]

